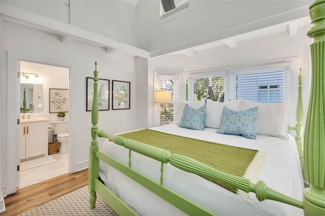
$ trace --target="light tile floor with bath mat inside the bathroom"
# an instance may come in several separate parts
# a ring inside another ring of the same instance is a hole
[[[69,172],[69,153],[51,154],[57,161],[20,172],[20,186],[24,188]]]

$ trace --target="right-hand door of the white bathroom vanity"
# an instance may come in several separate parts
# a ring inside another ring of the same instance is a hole
[[[26,124],[26,158],[47,154],[47,121]]]

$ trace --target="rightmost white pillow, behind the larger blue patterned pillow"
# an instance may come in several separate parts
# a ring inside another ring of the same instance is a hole
[[[258,106],[254,124],[255,134],[288,140],[287,130],[291,103],[289,101],[263,104],[244,100],[241,110]]]

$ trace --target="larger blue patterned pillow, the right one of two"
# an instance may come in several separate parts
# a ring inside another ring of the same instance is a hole
[[[256,139],[254,134],[254,122],[257,110],[258,107],[235,111],[224,106],[220,127],[216,133],[240,135],[248,139]]]

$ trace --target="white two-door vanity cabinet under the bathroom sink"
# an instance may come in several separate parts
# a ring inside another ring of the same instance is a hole
[[[20,121],[20,160],[48,154],[48,118]]]

